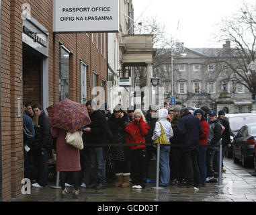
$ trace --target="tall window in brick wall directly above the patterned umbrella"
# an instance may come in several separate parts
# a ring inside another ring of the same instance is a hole
[[[58,95],[59,101],[69,98],[69,50],[64,46],[60,46],[60,65],[59,65],[59,82]]]

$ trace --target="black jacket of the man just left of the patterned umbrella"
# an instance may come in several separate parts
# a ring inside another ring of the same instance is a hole
[[[33,146],[48,149],[51,139],[50,121],[44,110],[42,110],[42,113],[38,118],[38,126],[35,126]]]

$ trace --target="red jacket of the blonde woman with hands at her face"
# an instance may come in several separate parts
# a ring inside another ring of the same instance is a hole
[[[128,124],[126,127],[126,142],[127,143],[145,143],[144,136],[148,134],[149,126],[144,122],[143,118],[140,118],[139,123],[135,120]],[[146,148],[144,145],[129,146],[130,150],[136,150],[138,148]]]

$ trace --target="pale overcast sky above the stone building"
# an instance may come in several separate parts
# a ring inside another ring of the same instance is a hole
[[[249,0],[133,0],[134,20],[156,16],[169,34],[187,48],[216,48],[212,34],[221,17],[228,17]],[[255,1],[255,0],[251,0]],[[179,24],[178,24],[179,23]],[[177,29],[179,26],[179,29]]]

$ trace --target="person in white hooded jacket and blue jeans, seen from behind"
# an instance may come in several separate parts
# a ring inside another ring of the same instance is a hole
[[[166,109],[159,110],[158,121],[156,122],[152,140],[157,140],[157,138],[161,136],[161,127],[165,131],[165,136],[168,142],[170,138],[173,137],[173,129],[171,128],[171,123],[167,121],[167,116],[168,116],[168,111]],[[168,186],[170,183],[170,163],[169,163],[170,151],[171,151],[171,146],[162,145],[160,148],[160,169],[161,169],[160,185],[161,186]]]

